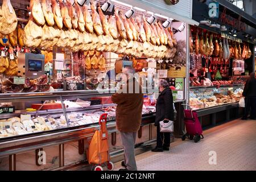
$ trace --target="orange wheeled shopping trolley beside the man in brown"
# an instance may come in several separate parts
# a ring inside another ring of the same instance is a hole
[[[114,164],[109,161],[108,131],[106,128],[107,115],[104,113],[100,116],[99,129],[95,131],[87,151],[88,162],[93,164],[94,171],[103,171],[102,164],[105,164],[111,171],[114,169]]]

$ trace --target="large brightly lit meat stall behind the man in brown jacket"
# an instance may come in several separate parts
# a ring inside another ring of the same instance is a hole
[[[137,153],[155,144],[159,70],[183,71],[163,77],[176,87],[175,135],[183,134],[180,107],[186,100],[188,58],[183,48],[188,48],[187,23],[198,25],[190,17],[190,1],[170,10],[160,1],[157,6],[112,1],[109,10],[102,8],[105,1],[85,2],[0,1],[1,170],[86,166],[86,149],[102,113],[108,114],[110,156],[121,159],[110,96],[123,84],[115,76],[126,66],[136,69],[145,90]],[[135,13],[129,17],[131,8]],[[163,65],[172,60],[174,68]]]

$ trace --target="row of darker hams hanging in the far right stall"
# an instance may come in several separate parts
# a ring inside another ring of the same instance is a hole
[[[249,45],[244,43],[243,49],[240,43],[229,41],[228,39],[218,40],[215,38],[213,42],[213,34],[204,37],[204,32],[202,32],[200,38],[198,32],[196,33],[195,39],[193,39],[192,34],[189,36],[189,51],[195,52],[196,55],[205,56],[217,56],[220,59],[249,59],[251,57],[251,50]]]

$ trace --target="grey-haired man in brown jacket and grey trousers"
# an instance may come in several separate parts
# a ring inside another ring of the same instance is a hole
[[[123,81],[125,81],[126,84],[121,87],[122,92],[119,90],[118,93],[112,96],[113,103],[117,104],[115,117],[125,152],[125,161],[122,162],[122,166],[126,168],[120,170],[137,171],[134,144],[137,131],[141,126],[143,93],[141,85],[139,85],[139,82],[134,78],[134,68],[126,67],[123,69],[123,73],[123,75],[128,78],[123,77]]]

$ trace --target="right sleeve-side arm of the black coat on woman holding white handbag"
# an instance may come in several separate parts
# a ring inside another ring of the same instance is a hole
[[[174,121],[174,105],[170,89],[164,94],[164,118]]]

